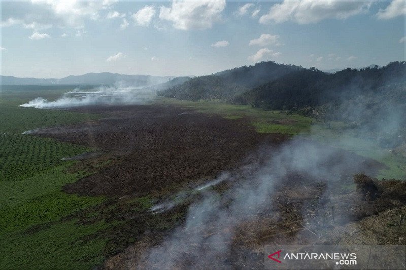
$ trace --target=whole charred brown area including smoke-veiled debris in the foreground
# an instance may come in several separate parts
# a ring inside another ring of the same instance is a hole
[[[395,221],[402,197],[385,195],[394,187],[356,190],[353,175],[377,175],[385,169],[377,161],[181,106],[72,110],[105,117],[31,134],[93,147],[69,169],[87,176],[62,190],[107,198],[67,217],[110,224],[89,238],[108,239],[104,268],[258,268],[270,243],[360,243],[354,234],[364,244],[404,241]],[[370,218],[394,225],[371,237]]]

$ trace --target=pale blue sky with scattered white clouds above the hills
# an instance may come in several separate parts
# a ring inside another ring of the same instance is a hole
[[[404,61],[406,0],[1,1],[2,75],[203,75]]]

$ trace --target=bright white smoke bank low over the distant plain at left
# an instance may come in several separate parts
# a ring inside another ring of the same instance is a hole
[[[156,92],[147,87],[100,86],[90,91],[75,89],[54,101],[38,97],[19,106],[44,109],[86,105],[130,105],[146,103],[155,96]]]

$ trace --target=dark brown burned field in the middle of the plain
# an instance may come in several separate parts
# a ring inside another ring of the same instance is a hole
[[[80,111],[109,116],[32,134],[108,152],[113,166],[64,188],[83,195],[143,196],[191,182],[199,184],[238,167],[259,145],[287,139],[282,134],[258,134],[243,120],[229,121],[168,105],[86,107]]]

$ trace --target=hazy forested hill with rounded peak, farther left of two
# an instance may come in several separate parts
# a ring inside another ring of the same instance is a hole
[[[253,66],[242,66],[212,75],[198,76],[191,80],[160,91],[165,97],[186,100],[207,98],[232,99],[253,87],[274,81],[281,76],[303,69],[300,66],[261,62]]]

